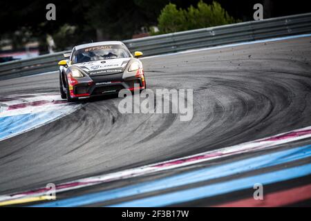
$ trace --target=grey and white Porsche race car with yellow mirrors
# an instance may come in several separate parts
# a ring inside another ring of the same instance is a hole
[[[121,41],[102,41],[75,46],[59,61],[59,88],[68,102],[99,95],[118,93],[122,89],[146,88],[142,62]]]

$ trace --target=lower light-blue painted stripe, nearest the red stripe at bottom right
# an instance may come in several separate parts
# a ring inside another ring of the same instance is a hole
[[[239,191],[241,189],[252,189],[254,184],[260,183],[263,185],[272,184],[274,182],[281,182],[285,180],[294,179],[296,177],[303,177],[311,174],[311,164],[303,166],[296,166],[290,169],[283,169],[281,171],[274,171],[270,173],[263,173],[252,177],[246,177],[229,182],[222,182],[218,184],[211,184],[208,186],[200,186],[194,189],[187,189],[184,191],[176,191],[163,195],[156,195],[149,198],[142,198],[140,200],[133,200],[130,202],[123,202],[120,204],[111,205],[112,207],[119,206],[167,206],[182,202],[189,202],[191,200],[198,200],[208,198],[214,195],[230,193]]]

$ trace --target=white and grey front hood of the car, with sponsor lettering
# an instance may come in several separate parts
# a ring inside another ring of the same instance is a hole
[[[131,58],[106,59],[75,64],[90,76],[111,75],[121,73]]]

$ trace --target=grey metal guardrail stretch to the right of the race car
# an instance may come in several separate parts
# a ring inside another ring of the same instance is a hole
[[[194,48],[310,32],[311,13],[308,13],[144,37],[142,39],[124,41],[124,44],[131,51],[142,50],[144,55],[158,55]]]

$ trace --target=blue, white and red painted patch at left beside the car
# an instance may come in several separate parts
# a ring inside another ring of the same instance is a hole
[[[0,102],[0,142],[70,115],[83,105],[68,103],[60,95],[53,94],[10,95],[6,98],[8,101]]]

